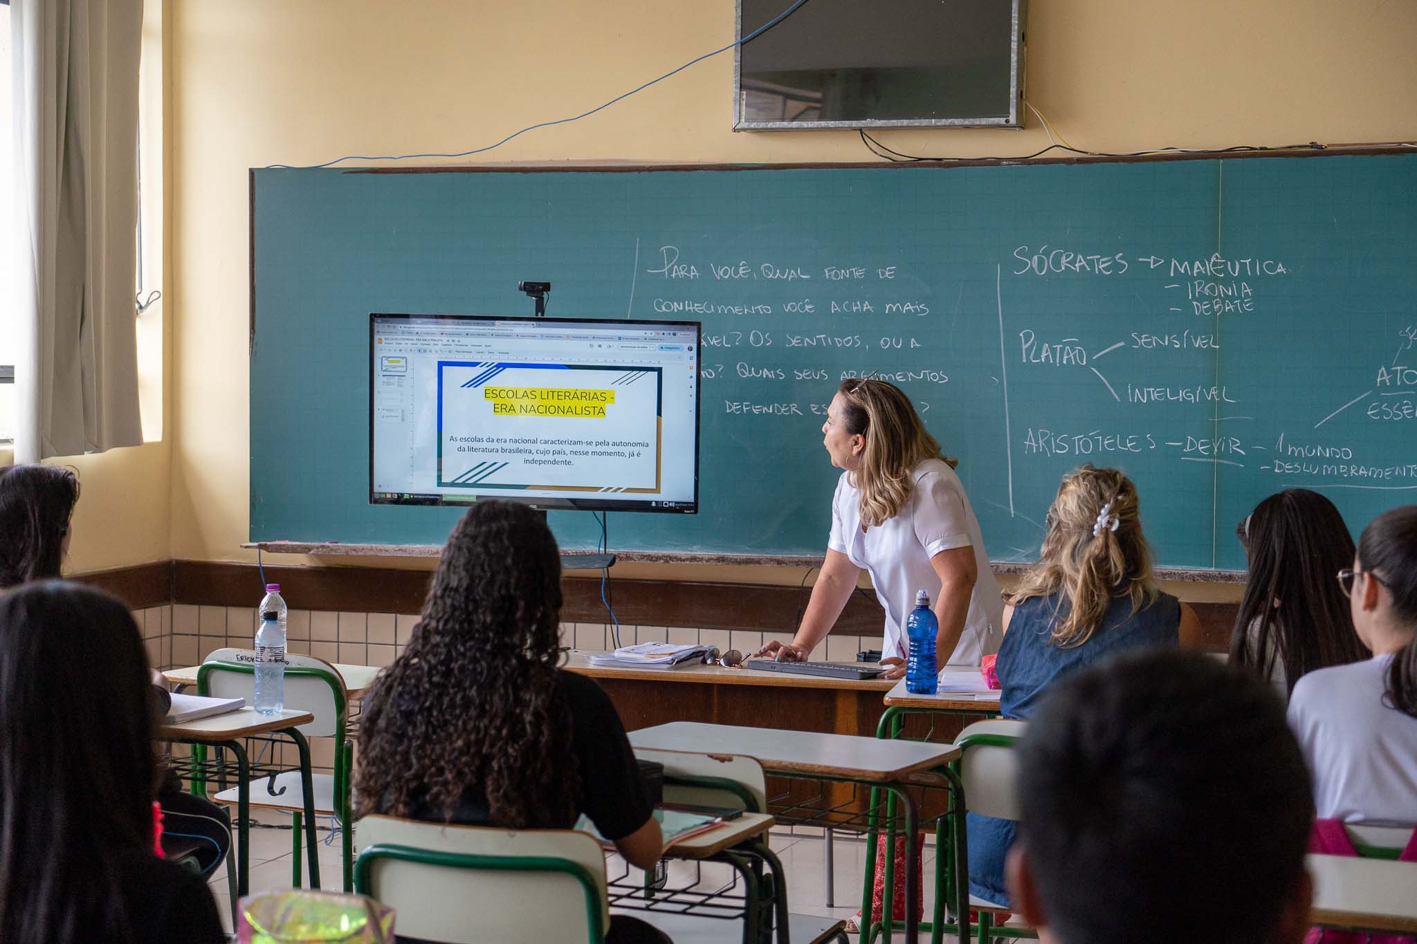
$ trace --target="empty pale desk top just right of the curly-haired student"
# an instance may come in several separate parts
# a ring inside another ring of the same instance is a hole
[[[769,774],[839,777],[862,783],[904,780],[959,757],[959,749],[954,744],[699,722],[672,722],[632,730],[629,743],[660,750],[744,754],[757,759]]]

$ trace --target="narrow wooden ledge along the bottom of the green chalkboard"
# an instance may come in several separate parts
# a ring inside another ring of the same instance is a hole
[[[299,541],[256,541],[241,545],[259,548],[265,553],[307,553],[322,558],[436,558],[442,545],[436,543],[312,543]],[[564,553],[594,553],[594,551],[564,551]],[[758,568],[819,568],[822,558],[803,555],[700,553],[684,551],[616,551],[616,560],[625,563],[696,563]],[[1029,569],[1020,560],[993,560],[998,575],[1016,575]],[[1244,570],[1207,570],[1204,568],[1156,568],[1158,580],[1182,583],[1244,583]]]

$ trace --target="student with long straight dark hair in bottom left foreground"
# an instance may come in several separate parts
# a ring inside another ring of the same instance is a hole
[[[225,940],[205,883],[153,855],[146,681],[133,617],[106,593],[0,594],[0,941]]]

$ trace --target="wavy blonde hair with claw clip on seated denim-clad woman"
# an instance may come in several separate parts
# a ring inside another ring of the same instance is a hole
[[[1051,637],[1058,645],[1087,643],[1114,597],[1129,596],[1132,613],[1156,599],[1136,485],[1121,470],[1085,464],[1063,477],[1039,562],[1006,599],[1019,606],[1060,590]]]

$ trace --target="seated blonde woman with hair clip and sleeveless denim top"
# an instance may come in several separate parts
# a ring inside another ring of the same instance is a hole
[[[1136,485],[1117,468],[1083,466],[1063,477],[1034,563],[1007,597],[999,647],[999,710],[1029,718],[1073,672],[1121,651],[1196,647],[1196,613],[1152,577]],[[1009,904],[1010,819],[968,815],[969,890]]]

